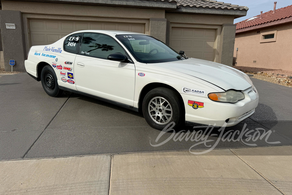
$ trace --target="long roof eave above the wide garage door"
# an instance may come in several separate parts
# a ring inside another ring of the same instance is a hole
[[[176,1],[168,0],[7,0],[7,1],[26,1],[38,3],[55,3],[55,4],[75,4],[75,5],[91,5],[91,6],[107,6],[107,7],[131,7],[131,8],[147,8],[147,9],[176,9]]]

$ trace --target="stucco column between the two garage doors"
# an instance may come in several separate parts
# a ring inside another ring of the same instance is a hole
[[[149,34],[159,39],[162,42],[166,42],[166,18],[150,18]]]

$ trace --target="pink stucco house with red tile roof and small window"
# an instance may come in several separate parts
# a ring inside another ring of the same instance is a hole
[[[236,23],[234,65],[292,71],[292,5],[276,10],[276,3],[273,11]]]

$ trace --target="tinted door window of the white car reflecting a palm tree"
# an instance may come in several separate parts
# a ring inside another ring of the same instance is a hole
[[[79,54],[107,59],[109,54],[125,51],[119,44],[109,36],[96,33],[84,33]]]

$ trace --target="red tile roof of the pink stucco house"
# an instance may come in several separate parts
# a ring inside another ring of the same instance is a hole
[[[256,26],[256,25],[261,25],[261,24],[265,24],[265,23],[269,23],[269,22],[273,22],[273,21],[277,21],[277,20],[283,20],[286,18],[292,18],[292,5],[291,6],[287,6],[287,7],[283,7],[280,9],[276,10],[276,13],[273,13],[273,11],[268,11],[263,13],[262,15],[262,19],[260,19],[260,15],[257,15],[255,17],[254,20],[250,20],[250,21],[241,21],[239,23],[236,23],[236,30],[240,30],[243,28],[248,28],[248,27],[252,27],[252,26]]]

